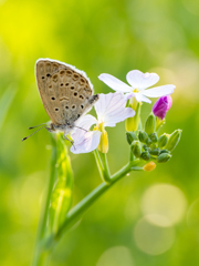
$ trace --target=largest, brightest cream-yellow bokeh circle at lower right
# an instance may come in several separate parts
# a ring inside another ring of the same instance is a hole
[[[184,193],[169,184],[150,186],[143,195],[142,211],[158,226],[171,226],[181,221],[187,208]]]

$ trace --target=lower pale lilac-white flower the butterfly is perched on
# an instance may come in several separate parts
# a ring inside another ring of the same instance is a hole
[[[78,120],[77,127],[71,133],[71,137],[74,141],[71,152],[88,153],[94,151],[100,144],[101,134],[104,132],[105,126],[115,126],[116,123],[133,117],[135,111],[126,108],[126,101],[132,95],[124,96],[121,92],[100,94],[100,100],[94,105],[97,119],[86,114]],[[88,131],[94,124],[96,125],[95,130]]]

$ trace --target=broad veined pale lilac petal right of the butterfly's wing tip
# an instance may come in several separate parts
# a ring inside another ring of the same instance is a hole
[[[126,101],[127,96],[119,92],[102,93],[100,100],[95,103],[98,124],[115,126],[116,123],[134,116],[133,109],[126,109]]]

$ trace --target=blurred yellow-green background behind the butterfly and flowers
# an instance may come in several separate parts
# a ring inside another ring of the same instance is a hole
[[[30,265],[48,183],[50,133],[21,142],[29,126],[49,120],[34,78],[39,58],[84,70],[97,93],[111,91],[97,79],[103,72],[123,81],[133,69],[158,73],[158,85],[177,86],[164,130],[184,131],[167,164],[130,173],[90,208],[61,239],[51,265],[199,265],[199,2],[0,0],[2,266]],[[144,104],[144,119],[150,109]],[[128,158],[125,124],[108,135],[113,173]],[[71,157],[75,204],[101,178],[92,153]]]

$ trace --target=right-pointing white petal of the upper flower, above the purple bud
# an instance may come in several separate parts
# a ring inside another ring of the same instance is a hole
[[[159,96],[166,96],[166,95],[170,95],[174,90],[175,90],[175,85],[163,85],[163,86],[156,86],[153,89],[148,89],[146,91],[143,91],[143,94],[145,96],[149,96],[149,98],[159,98]]]

